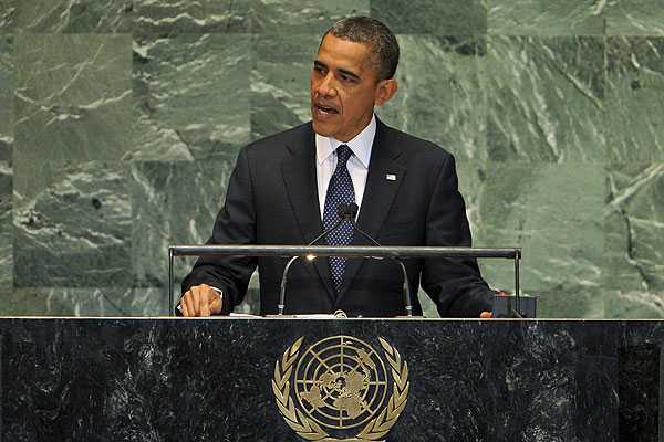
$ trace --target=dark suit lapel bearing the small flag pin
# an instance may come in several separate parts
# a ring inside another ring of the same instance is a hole
[[[387,213],[396,197],[396,192],[406,173],[406,165],[402,149],[390,139],[387,127],[376,118],[376,136],[371,149],[371,160],[362,208],[357,217],[357,227],[372,238],[377,238]],[[395,178],[395,179],[393,179]],[[369,240],[355,232],[353,245],[372,245]],[[349,260],[343,277],[340,296],[343,296],[351,282],[366,260]]]

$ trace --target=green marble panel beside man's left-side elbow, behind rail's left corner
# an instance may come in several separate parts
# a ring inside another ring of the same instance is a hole
[[[210,238],[234,165],[220,160],[133,165],[132,267],[136,286],[167,286],[168,245],[204,244]],[[176,282],[194,261],[176,259]]]

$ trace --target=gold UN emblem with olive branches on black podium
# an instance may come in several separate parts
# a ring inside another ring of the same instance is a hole
[[[382,357],[342,335],[301,352],[303,340],[274,365],[272,391],[286,423],[309,441],[381,441],[408,399],[408,365],[396,348],[378,337]]]

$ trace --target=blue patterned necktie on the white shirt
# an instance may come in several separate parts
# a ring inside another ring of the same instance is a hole
[[[339,221],[339,204],[355,202],[355,191],[351,173],[346,167],[349,158],[353,151],[346,145],[336,148],[336,169],[330,178],[328,193],[325,194],[325,210],[323,211],[323,228],[331,229]],[[353,240],[353,224],[351,221],[343,221],[338,229],[328,234],[329,245],[349,245]],[[330,273],[336,293],[341,290],[343,272],[345,270],[345,257],[330,256]]]

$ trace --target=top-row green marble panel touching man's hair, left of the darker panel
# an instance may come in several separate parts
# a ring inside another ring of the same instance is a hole
[[[255,33],[317,33],[319,38],[335,21],[350,15],[369,15],[370,0],[251,0]]]

